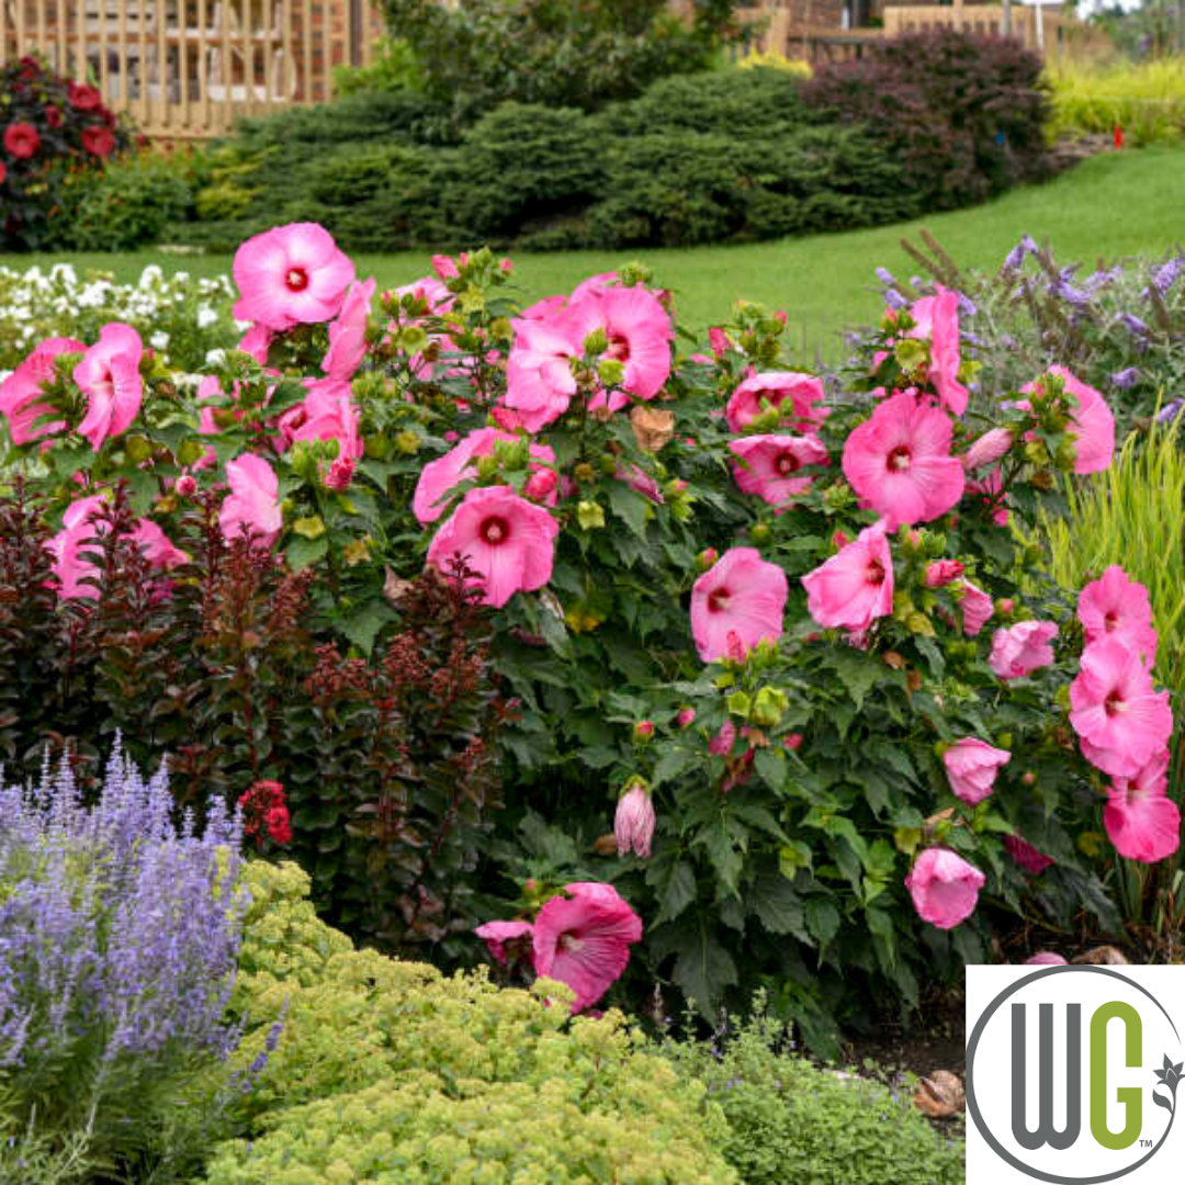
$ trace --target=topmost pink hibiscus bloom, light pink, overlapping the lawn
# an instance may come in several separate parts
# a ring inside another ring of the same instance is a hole
[[[275,226],[235,252],[235,316],[283,332],[337,316],[354,265],[316,223]]]

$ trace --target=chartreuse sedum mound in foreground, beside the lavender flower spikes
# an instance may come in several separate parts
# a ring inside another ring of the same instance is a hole
[[[353,950],[294,865],[249,866],[237,1006],[286,1008],[248,1100],[257,1130],[211,1185],[725,1185],[723,1115],[622,1019],[568,1020],[566,988]],[[262,1044],[264,1029],[246,1042]]]

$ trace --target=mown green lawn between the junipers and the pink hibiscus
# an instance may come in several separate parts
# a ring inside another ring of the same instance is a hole
[[[833,352],[845,326],[866,324],[879,310],[872,275],[877,265],[909,276],[915,271],[901,239],[930,230],[963,265],[995,268],[1021,233],[1048,238],[1059,260],[1094,264],[1136,252],[1164,252],[1185,239],[1180,194],[1185,193],[1185,149],[1146,148],[1088,160],[1049,185],[1017,190],[973,210],[914,223],[747,246],[638,252],[658,281],[674,290],[685,326],[703,327],[725,316],[738,296],[784,308],[795,340],[808,353]],[[332,228],[331,228],[332,230]],[[623,262],[621,252],[572,251],[515,257],[517,278],[532,299],[570,289],[583,276]],[[0,256],[0,264],[26,267],[57,256]],[[145,264],[210,275],[230,269],[225,256],[178,256],[155,251],[79,255],[76,267],[139,275]],[[428,252],[358,256],[359,271],[391,287],[427,270]]]

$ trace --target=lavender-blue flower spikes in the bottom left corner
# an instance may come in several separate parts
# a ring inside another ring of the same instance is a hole
[[[19,1091],[237,1045],[241,822],[216,801],[199,835],[173,809],[165,769],[143,781],[118,742],[92,807],[65,764],[0,787],[0,1068]]]

